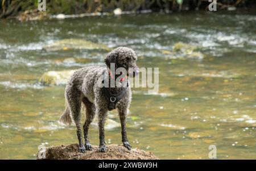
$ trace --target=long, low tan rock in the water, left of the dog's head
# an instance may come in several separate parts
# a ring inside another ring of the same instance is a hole
[[[55,41],[52,44],[45,45],[43,47],[46,51],[66,51],[69,49],[103,49],[105,51],[110,51],[111,49],[104,45],[93,43],[92,41],[87,41],[83,39],[63,39]]]

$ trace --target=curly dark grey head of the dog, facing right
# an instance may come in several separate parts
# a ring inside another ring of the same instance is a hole
[[[108,53],[104,61],[109,69],[110,64],[114,64],[115,70],[117,68],[125,68],[127,76],[135,77],[139,73],[139,68],[136,64],[137,56],[131,48],[115,48]]]

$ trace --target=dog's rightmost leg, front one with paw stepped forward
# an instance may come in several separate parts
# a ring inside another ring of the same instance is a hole
[[[121,122],[121,134],[122,134],[122,143],[125,148],[131,150],[131,145],[129,144],[129,141],[127,139],[126,135],[126,116],[127,116],[127,109],[119,109],[118,110],[120,122]]]

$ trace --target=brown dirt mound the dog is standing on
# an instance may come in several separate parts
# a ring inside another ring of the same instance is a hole
[[[105,153],[98,151],[98,146],[93,145],[92,151],[80,153],[77,151],[78,144],[61,145],[57,147],[41,148],[36,159],[57,159],[57,160],[87,160],[87,159],[158,159],[152,152],[145,152],[141,149],[127,150],[123,145],[107,145]]]

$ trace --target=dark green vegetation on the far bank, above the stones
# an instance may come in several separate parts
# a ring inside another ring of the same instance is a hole
[[[219,9],[230,6],[252,7],[252,0],[218,0]],[[81,14],[86,12],[112,12],[116,8],[123,11],[177,11],[206,9],[205,0],[46,0],[47,14]],[[0,0],[0,18],[13,17],[22,13],[38,12],[37,0]]]

